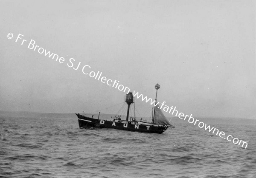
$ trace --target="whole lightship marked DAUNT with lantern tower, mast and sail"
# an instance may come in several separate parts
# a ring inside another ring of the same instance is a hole
[[[158,90],[160,85],[155,85],[155,89]],[[137,121],[136,117],[130,117],[129,119],[129,110],[130,105],[134,103],[134,97],[131,92],[126,94],[125,102],[127,106],[127,114],[126,119],[122,120],[121,116],[111,117],[113,120],[109,121],[107,119],[98,119],[93,118],[93,116],[88,117],[76,113],[78,117],[78,123],[80,128],[112,128],[119,130],[128,130],[135,132],[143,132],[143,133],[163,133],[169,127],[174,127],[163,115],[162,110],[159,105],[154,106],[152,109],[152,120],[149,121]],[[156,91],[156,99],[155,103],[157,103],[157,91]]]

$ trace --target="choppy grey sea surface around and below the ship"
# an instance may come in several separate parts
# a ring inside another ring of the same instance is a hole
[[[247,149],[186,121],[172,124],[148,134],[80,129],[75,118],[0,117],[0,177],[256,178],[256,124],[211,123]]]

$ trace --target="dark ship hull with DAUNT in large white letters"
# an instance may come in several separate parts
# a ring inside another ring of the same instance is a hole
[[[167,126],[149,126],[149,125],[138,125],[134,121],[107,121],[102,119],[94,119],[81,114],[76,114],[78,117],[78,123],[80,128],[111,128],[119,130],[128,130],[134,132],[143,132],[143,133],[163,133],[168,128]]]

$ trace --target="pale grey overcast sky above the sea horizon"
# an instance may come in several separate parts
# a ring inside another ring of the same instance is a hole
[[[253,0],[1,0],[0,110],[90,113],[124,102],[82,73],[89,65],[151,98],[158,83],[157,101],[179,112],[256,118],[255,9]],[[151,108],[135,102],[142,114]]]

